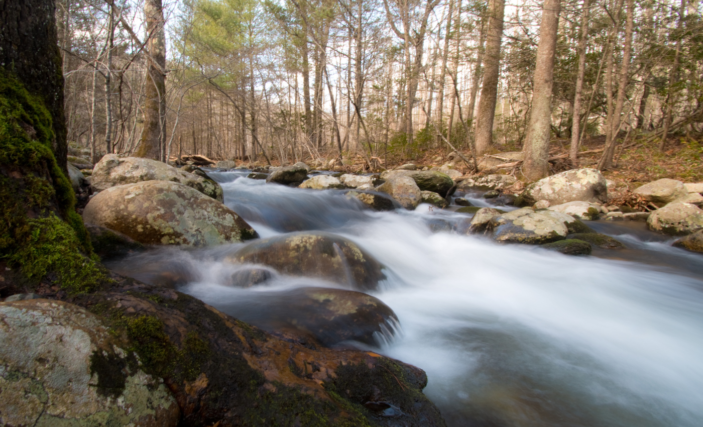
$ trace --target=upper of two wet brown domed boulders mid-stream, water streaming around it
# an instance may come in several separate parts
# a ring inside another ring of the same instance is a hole
[[[323,231],[299,231],[253,241],[225,261],[266,265],[280,274],[316,277],[361,291],[374,290],[386,279],[383,265],[356,243]]]

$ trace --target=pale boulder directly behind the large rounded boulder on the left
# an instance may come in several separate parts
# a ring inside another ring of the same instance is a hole
[[[91,186],[96,191],[110,187],[134,184],[142,181],[172,181],[189,186],[214,198],[223,201],[222,187],[217,182],[191,174],[157,160],[140,157],[119,157],[117,154],[106,154],[93,168]]]

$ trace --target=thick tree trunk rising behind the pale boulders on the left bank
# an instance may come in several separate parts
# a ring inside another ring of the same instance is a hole
[[[138,157],[162,160],[165,148],[166,113],[166,36],[162,0],[146,0],[144,15],[148,53],[144,94],[144,128],[141,144],[135,153]]]

